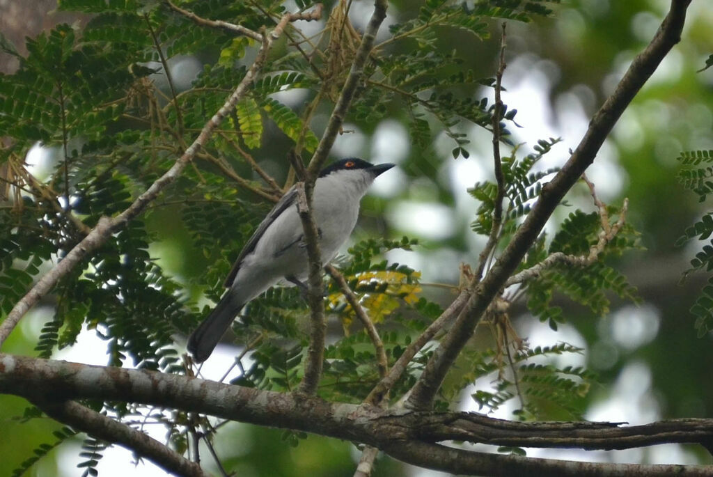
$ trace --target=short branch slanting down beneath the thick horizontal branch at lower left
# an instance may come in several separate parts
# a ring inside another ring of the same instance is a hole
[[[34,401],[34,404],[52,419],[67,424],[76,431],[128,448],[167,472],[179,476],[205,476],[198,463],[189,461],[143,432],[74,401]]]

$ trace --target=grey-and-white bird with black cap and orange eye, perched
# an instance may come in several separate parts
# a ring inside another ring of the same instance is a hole
[[[359,158],[337,160],[314,182],[312,214],[317,225],[322,262],[329,263],[352,235],[359,202],[377,176],[394,164],[374,165]],[[210,357],[240,309],[275,284],[307,289],[309,262],[302,221],[297,212],[297,188],[292,186],[272,207],[243,247],[225,279],[227,291],[188,338],[195,362]]]

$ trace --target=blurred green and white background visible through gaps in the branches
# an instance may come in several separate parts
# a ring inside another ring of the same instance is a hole
[[[540,168],[562,165],[568,150],[582,138],[589,118],[612,92],[632,58],[655,34],[669,3],[570,0],[555,6],[555,15],[550,19],[532,24],[509,23],[503,101],[509,109],[518,110],[515,121],[521,128],[511,128],[513,143],[523,143],[521,148],[528,152],[538,139],[562,138]],[[391,1],[389,16],[382,26],[384,35],[379,39],[388,37],[389,24],[415,16],[420,5],[421,2]],[[53,1],[0,1],[0,31],[21,47],[25,36],[34,36],[60,22],[83,20],[58,14],[54,8]],[[371,10],[370,1],[352,3],[350,15],[356,29],[362,29]],[[518,334],[528,338],[530,346],[568,342],[585,349],[566,359],[573,365],[588,366],[599,375],[599,382],[587,398],[586,419],[644,424],[667,418],[713,417],[713,334],[697,337],[694,317],[688,311],[707,277],[691,275],[682,282],[682,272],[699,245],[674,247],[684,229],[709,210],[674,177],[676,158],[682,150],[713,149],[713,68],[697,73],[713,53],[712,24],[713,4],[694,0],[681,43],[624,113],[588,170],[602,200],[612,205],[621,205],[624,198],[630,200],[628,221],[641,233],[645,250],[628,253],[617,268],[639,289],[642,305],[614,299],[611,313],[600,319],[558,298],[557,304],[568,318],[558,332],[533,319],[522,305],[511,317]],[[304,29],[316,32],[323,26],[305,24]],[[497,22],[492,22],[491,31],[491,40],[477,42],[466,33],[444,30],[438,42],[446,50],[455,49],[477,76],[491,77],[499,48]],[[408,44],[401,47],[408,48]],[[173,76],[182,85],[180,88],[190,86],[202,61],[200,57],[173,58]],[[16,64],[0,57],[0,71],[9,73],[14,68]],[[154,79],[163,81],[160,76]],[[284,94],[280,101],[296,109],[304,103],[299,91],[280,94]],[[478,98],[482,96],[492,98],[492,91],[483,88]],[[314,117],[315,131],[321,131],[326,123],[327,106]],[[388,258],[421,270],[426,283],[424,293],[446,303],[453,295],[442,285],[457,284],[458,265],[476,263],[483,247],[483,241],[470,227],[478,203],[466,189],[479,180],[493,178],[491,136],[482,128],[463,128],[471,140],[465,146],[470,157],[454,160],[453,142],[444,133],[429,138],[429,148],[416,147],[399,106],[397,100],[387,103],[389,110],[378,123],[348,118],[344,130],[349,132],[339,136],[332,157],[355,155],[374,163],[398,165],[376,181],[371,195],[364,200],[363,217],[354,240],[371,235],[419,237],[421,245],[416,250],[394,252]],[[270,140],[264,140],[254,155],[266,170],[284,177],[284,155],[291,143],[277,128],[265,136]],[[51,160],[39,148],[28,158],[36,164],[38,175]],[[575,187],[568,201],[584,210],[595,210],[583,184]],[[573,209],[560,207],[558,215],[550,220],[549,230],[556,230],[557,223]],[[160,265],[165,270],[190,282],[190,277],[202,272],[200,252],[193,250],[188,234],[175,224],[170,210],[155,212],[152,217],[153,225],[164,237],[152,255],[161,257]],[[47,310],[36,310],[11,336],[6,350],[32,354],[47,316]],[[59,352],[57,357],[105,364],[105,352],[105,342],[86,333],[76,347]],[[204,367],[204,374],[220,377],[234,355],[235,349],[220,349],[219,358],[212,363],[215,371]],[[486,389],[489,383],[478,381],[476,385]],[[58,428],[49,420],[21,424],[9,419],[25,406],[22,399],[0,396],[2,434],[12,436],[0,439],[0,455],[4,456],[0,459],[0,475],[11,475],[12,469],[31,456],[39,443],[51,440],[48,433]],[[460,409],[478,408],[465,393]],[[504,406],[496,415],[511,417],[512,409]],[[351,443],[309,436],[299,446],[291,447],[283,440],[283,431],[245,424],[227,427],[232,435],[222,434],[217,452],[235,475],[351,476],[359,458]],[[64,444],[38,463],[32,475],[78,475],[81,470],[75,467],[77,454],[78,444],[75,448]],[[702,448],[679,445],[612,452],[528,449],[528,455],[632,463],[712,462]],[[132,459],[128,451],[107,451],[98,469],[106,476],[127,471],[140,476],[163,475],[150,463],[133,468]],[[445,474],[381,458],[375,475]]]

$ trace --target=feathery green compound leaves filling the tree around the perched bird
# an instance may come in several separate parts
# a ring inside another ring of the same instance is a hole
[[[205,18],[261,31],[272,29],[284,12],[283,3],[188,0],[180,6]],[[425,1],[413,18],[404,17],[391,26],[391,38],[371,53],[345,119],[374,125],[389,115],[401,117],[414,147],[421,150],[427,150],[434,133],[442,130],[453,143],[453,158],[471,155],[466,131],[472,125],[491,130],[497,120],[501,140],[509,144],[508,127],[517,110],[505,105],[501,117],[493,118],[489,99],[493,78],[479,76],[472,62],[461,57],[463,53],[444,51],[440,43],[446,34],[488,40],[491,19],[531,21],[550,15],[554,3]],[[309,8],[314,2],[297,4]],[[19,70],[0,76],[0,135],[12,139],[0,150],[0,165],[14,171],[10,179],[17,190],[17,197],[9,201],[11,207],[0,209],[2,314],[24,296],[43,267],[61,260],[83,238],[85,227],[123,212],[172,167],[245,78],[249,64],[245,58],[252,58],[257,48],[250,39],[195,24],[163,2],[61,0],[59,8],[91,16],[81,28],[62,24],[29,39],[29,54],[21,58]],[[71,346],[88,328],[106,342],[110,365],[188,372],[178,356],[183,344],[176,337],[205,317],[209,307],[200,301],[203,297],[220,298],[222,281],[235,256],[272,205],[262,199],[277,195],[271,185],[265,187],[257,167],[274,174],[280,187],[289,186],[287,149],[298,146],[311,153],[317,148],[324,112],[333,106],[334,88],[342,84],[354,53],[348,45],[340,49],[321,40],[302,39],[292,26],[286,31],[294,36],[275,42],[262,76],[183,175],[148,212],[114,231],[100,250],[55,287],[53,314],[45,317],[36,343],[41,357]],[[319,51],[306,53],[311,46]],[[16,55],[3,37],[0,48]],[[169,83],[165,71],[170,65],[166,61],[179,56],[205,63],[184,91],[175,78]],[[482,91],[476,87],[483,87]],[[173,91],[176,88],[179,91]],[[464,88],[470,88],[468,93]],[[275,94],[297,89],[305,93],[305,106],[287,106],[292,102]],[[314,109],[309,108],[314,99]],[[500,244],[511,237],[538,199],[544,181],[556,172],[537,166],[558,141],[541,140],[525,157],[518,156],[515,147],[502,159],[505,203]],[[34,177],[34,170],[24,163],[28,150],[38,142],[53,155],[50,171],[41,178]],[[243,147],[255,154],[257,166],[245,159]],[[699,162],[691,164],[707,163],[708,158],[696,155]],[[235,181],[236,176],[241,180]],[[692,188],[705,193],[709,173],[690,177]],[[480,202],[473,230],[490,235],[497,185],[478,183],[471,194]],[[610,215],[617,213],[610,208]],[[701,227],[709,225],[709,219],[704,219],[689,238],[707,238],[710,231]],[[599,227],[597,215],[573,212],[549,245],[544,235],[540,237],[519,270],[537,265],[553,252],[586,255],[596,243]],[[170,257],[169,244],[180,250],[178,259]],[[417,270],[384,258],[390,250],[412,250],[417,245],[408,237],[364,240],[339,262],[349,287],[379,331],[389,366],[443,311],[422,296],[424,284]],[[522,284],[530,311],[556,327],[564,317],[551,304],[555,292],[567,294],[596,314],[607,311],[607,291],[636,299],[625,279],[603,262],[635,246],[635,233],[625,227],[590,267],[551,267]],[[196,263],[195,255],[200,262]],[[183,259],[185,264],[176,265]],[[703,263],[708,257],[699,260]],[[379,381],[376,350],[337,283],[327,279],[325,284],[327,314],[342,324],[344,334],[325,351],[319,394],[358,403]],[[302,379],[308,317],[309,309],[295,288],[277,287],[252,300],[233,324],[235,342],[243,353],[235,361],[240,373],[232,382],[294,391]],[[409,363],[391,389],[393,399],[413,386],[434,349],[429,344]],[[465,371],[443,389],[438,407],[445,408],[476,379],[497,372],[493,390],[473,393],[482,409],[491,411],[515,399],[520,386],[525,402],[518,418],[543,416],[552,412],[550,406],[575,416],[592,376],[581,369],[531,361],[570,352],[579,350],[565,344],[523,347],[513,356],[513,376],[506,379],[502,347],[466,350]],[[138,406],[131,404],[104,402],[96,408],[120,420],[141,415]],[[154,418],[165,426],[170,443],[185,451],[188,417],[177,413],[172,419],[160,414]],[[286,434],[291,445],[299,438],[302,434]],[[39,448],[37,458],[58,443]],[[80,464],[83,475],[96,475],[105,448],[100,441],[85,441],[80,454],[85,459]],[[35,461],[27,461],[23,469]]]

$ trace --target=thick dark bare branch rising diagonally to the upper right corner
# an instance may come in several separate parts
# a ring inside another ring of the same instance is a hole
[[[493,268],[478,284],[468,307],[456,320],[446,338],[441,342],[433,357],[421,374],[409,397],[408,405],[414,408],[427,408],[441,387],[443,379],[451,369],[461,349],[473,335],[476,324],[481,319],[488,304],[506,284],[506,280],[518,267],[520,260],[537,239],[555,207],[593,163],[605,138],[614,127],[617,119],[632,101],[636,93],[650,78],[667,53],[681,39],[690,0],[672,0],[671,9],[656,32],[654,39],[640,53],[617,85],[616,90],[607,98],[599,111],[592,118],[587,133],[563,168],[546,184],[540,198],[525,217],[523,225],[513,235],[513,239],[498,258]]]

